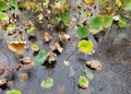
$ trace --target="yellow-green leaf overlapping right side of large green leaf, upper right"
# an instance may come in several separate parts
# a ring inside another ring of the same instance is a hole
[[[112,21],[114,21],[114,19],[112,19],[112,16],[111,15],[103,15],[102,16],[103,17],[103,25],[104,25],[104,27],[109,27],[109,26],[111,26],[111,24],[112,24]]]

